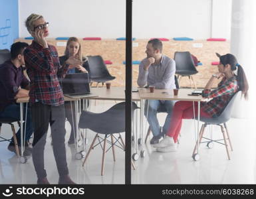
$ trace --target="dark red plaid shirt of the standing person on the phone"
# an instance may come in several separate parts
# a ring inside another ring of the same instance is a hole
[[[59,78],[63,78],[68,66],[61,66],[55,46],[43,48],[33,40],[24,51],[27,74],[31,80],[29,101],[48,105],[61,105],[64,103],[63,90]]]

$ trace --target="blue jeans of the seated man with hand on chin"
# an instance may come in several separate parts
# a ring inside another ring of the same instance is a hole
[[[149,106],[148,106],[149,101]],[[170,100],[146,100],[145,103],[145,116],[147,117],[147,110],[148,110],[148,123],[150,124],[151,131],[154,137],[160,135],[161,128],[158,122],[157,113],[160,106],[164,106],[168,115],[166,116],[166,121],[164,122],[164,127],[162,129],[162,133],[166,134],[169,127],[170,127],[170,119],[172,115],[172,108],[174,107],[174,103],[176,101]]]

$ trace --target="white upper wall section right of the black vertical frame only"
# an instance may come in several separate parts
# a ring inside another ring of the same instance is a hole
[[[133,35],[138,38],[208,38],[211,0],[134,0]]]

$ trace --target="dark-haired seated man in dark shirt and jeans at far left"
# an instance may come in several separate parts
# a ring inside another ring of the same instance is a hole
[[[11,60],[7,60],[0,65],[0,117],[11,117],[20,119],[20,107],[16,103],[17,98],[29,96],[29,80],[23,74],[22,65],[25,64],[23,51],[29,46],[25,42],[16,42],[11,45]],[[26,106],[23,112],[24,118],[26,115]],[[25,151],[23,155],[31,155],[31,148],[28,147],[27,141],[33,133],[31,123],[31,112],[27,109],[27,125],[25,134]],[[18,145],[21,145],[21,129],[16,133]],[[15,151],[13,138],[8,146],[10,151]],[[20,147],[19,147],[20,150]]]

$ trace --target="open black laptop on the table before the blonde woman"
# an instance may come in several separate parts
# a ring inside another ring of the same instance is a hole
[[[68,98],[97,97],[90,93],[90,80],[86,72],[66,74],[61,84],[63,94]]]

